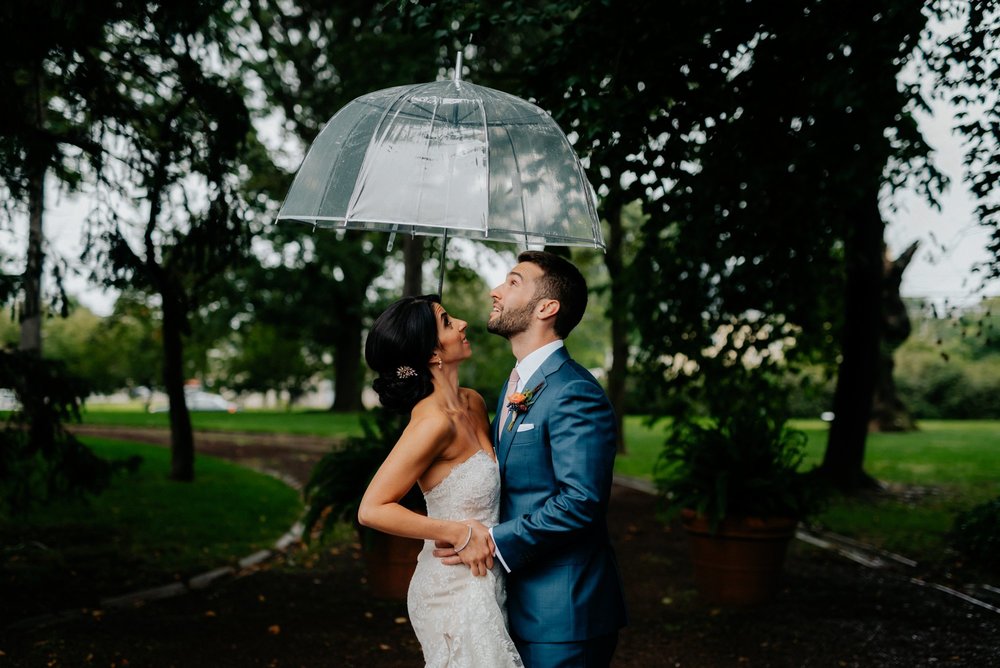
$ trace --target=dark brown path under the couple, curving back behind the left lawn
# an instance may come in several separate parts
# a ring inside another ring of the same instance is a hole
[[[168,442],[163,429],[75,431]],[[333,445],[310,437],[223,432],[197,432],[195,441],[199,454],[273,468],[297,485]],[[979,668],[996,659],[995,613],[933,587],[915,587],[893,569],[870,563],[859,568],[860,559],[845,560],[840,550],[817,551],[825,536],[793,546],[786,586],[775,601],[749,611],[706,607],[693,593],[682,532],[656,518],[645,485],[627,478],[616,483],[608,519],[632,617],[616,668]],[[107,606],[107,614],[75,614],[55,629],[27,628],[6,641],[0,635],[0,651],[7,651],[12,666],[79,665],[83,657],[95,665],[121,665],[128,658],[131,665],[187,668],[331,665],[331,658],[344,666],[420,665],[405,608],[370,600],[356,549],[322,556],[321,565],[309,568],[258,565],[236,578],[221,570],[206,573],[190,583],[187,596],[126,605],[120,614]],[[218,586],[204,586],[210,583]],[[192,654],[191,646],[198,652]],[[19,655],[23,662],[15,660]]]

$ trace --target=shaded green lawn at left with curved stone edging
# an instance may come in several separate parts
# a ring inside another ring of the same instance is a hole
[[[271,547],[298,519],[299,494],[250,469],[200,456],[193,483],[167,479],[166,448],[83,439],[106,458],[140,455],[102,494],[0,521],[0,582],[10,615],[167,584]],[[46,593],[48,592],[48,594]],[[6,617],[7,614],[2,615]]]

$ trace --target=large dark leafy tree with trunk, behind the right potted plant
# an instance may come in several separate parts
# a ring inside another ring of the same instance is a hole
[[[633,268],[644,277],[632,312],[646,378],[668,389],[665,410],[690,411],[734,365],[766,373],[839,354],[824,470],[861,484],[880,321],[879,196],[887,182],[936,183],[907,111],[913,91],[896,83],[924,19],[904,3],[848,13],[814,1],[714,20],[668,61],[684,85],[670,91],[663,136],[644,151],[643,164],[664,165]]]

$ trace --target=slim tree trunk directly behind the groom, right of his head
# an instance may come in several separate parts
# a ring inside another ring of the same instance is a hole
[[[628,374],[628,308],[622,276],[622,208],[617,203],[606,204],[605,216],[611,234],[608,238],[604,264],[611,280],[611,368],[608,370],[608,398],[615,409],[618,452],[625,452],[625,379]]]

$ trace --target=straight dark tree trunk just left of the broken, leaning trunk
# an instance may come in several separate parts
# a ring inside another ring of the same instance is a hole
[[[844,490],[874,482],[864,472],[864,458],[878,373],[884,223],[878,198],[873,195],[865,201],[865,210],[845,235],[847,274],[841,362],[833,397],[835,417],[821,466],[825,477]]]

